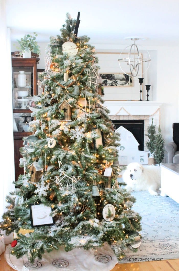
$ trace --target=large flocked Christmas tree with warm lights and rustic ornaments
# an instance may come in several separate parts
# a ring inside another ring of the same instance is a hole
[[[50,38],[33,135],[21,148],[24,175],[7,196],[1,222],[7,235],[17,234],[11,253],[31,262],[59,246],[104,244],[120,259],[133,241],[128,235],[141,230],[135,198],[117,182],[120,138],[98,93],[95,49],[87,36],[77,36],[79,21],[79,14],[77,20],[67,14],[61,35]]]

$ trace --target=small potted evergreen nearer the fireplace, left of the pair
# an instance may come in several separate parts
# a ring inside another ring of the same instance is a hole
[[[156,125],[153,124],[153,118],[152,118],[152,124],[148,126],[147,128],[147,136],[148,141],[146,142],[146,147],[149,150],[149,158],[148,158],[148,164],[155,164],[154,159],[154,151],[155,151],[155,137],[156,137],[156,131],[155,131]]]

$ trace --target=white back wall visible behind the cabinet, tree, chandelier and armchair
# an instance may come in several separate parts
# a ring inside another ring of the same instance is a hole
[[[39,43],[41,54],[40,63],[37,69],[44,69],[45,66],[45,48],[47,43]],[[114,44],[93,44],[97,52],[119,52],[123,50],[124,45]],[[146,47],[146,45],[145,45]],[[151,55],[151,65],[146,74],[143,74],[144,85],[151,85],[149,99],[162,102],[161,106],[161,130],[165,144],[172,141],[172,123],[179,122],[179,92],[178,92],[178,59],[179,50],[174,46],[149,46],[147,48]],[[17,50],[12,45],[12,51]],[[116,60],[117,61],[117,60]],[[118,65],[119,66],[119,65]],[[101,67],[102,69],[103,67]],[[120,67],[119,67],[120,72]],[[146,79],[147,77],[147,79]],[[145,82],[145,80],[147,82]],[[138,86],[140,91],[140,85]],[[146,93],[145,93],[146,95]],[[145,97],[144,97],[145,98]],[[120,93],[116,91],[116,99],[119,100]]]

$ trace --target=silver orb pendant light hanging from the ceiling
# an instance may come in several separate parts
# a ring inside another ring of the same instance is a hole
[[[139,76],[145,73],[151,62],[151,57],[149,51],[144,49],[144,57],[141,52],[139,52],[138,46],[136,45],[136,40],[142,40],[143,38],[139,37],[127,37],[125,39],[129,39],[133,41],[131,46],[127,46],[124,50],[120,53],[120,57],[118,59],[119,66],[122,71],[127,75],[132,76]],[[143,47],[143,46],[140,46]],[[125,55],[127,55],[125,57]],[[147,67],[143,67],[143,62],[148,62]]]

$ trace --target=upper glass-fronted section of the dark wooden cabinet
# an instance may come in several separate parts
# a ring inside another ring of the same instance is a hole
[[[12,58],[12,106],[14,137],[29,134],[28,124],[33,118],[28,105],[37,95],[37,63],[39,58]]]

